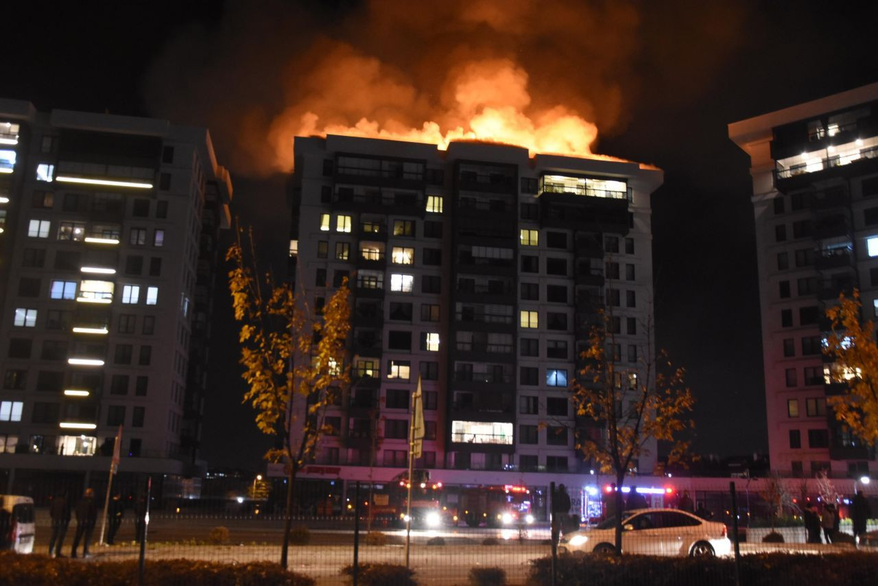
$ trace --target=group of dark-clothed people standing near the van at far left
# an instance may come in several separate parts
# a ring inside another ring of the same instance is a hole
[[[71,510],[72,509],[72,510]],[[119,494],[113,495],[107,508],[107,534],[106,544],[114,545],[116,541],[116,533],[119,532],[119,526],[122,525],[122,517],[125,515],[125,503]],[[49,517],[52,519],[52,535],[49,538],[49,555],[51,557],[63,557],[61,546],[64,544],[64,537],[67,535],[68,525],[70,525],[71,517],[76,517],[76,533],[73,538],[73,547],[70,550],[70,557],[76,558],[76,552],[79,550],[80,544],[83,546],[83,557],[90,557],[89,546],[91,537],[97,525],[97,503],[95,503],[95,491],[93,488],[86,488],[83,497],[79,499],[75,507],[71,507],[71,503],[66,493],[61,493],[52,499],[49,505]],[[139,520],[140,520],[139,516]],[[140,540],[141,523],[138,523],[137,538]]]

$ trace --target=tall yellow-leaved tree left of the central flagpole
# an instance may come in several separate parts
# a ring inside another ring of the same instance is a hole
[[[265,458],[284,462],[287,472],[281,550],[281,565],[286,568],[296,474],[313,456],[324,431],[325,407],[350,380],[350,365],[345,362],[349,290],[345,279],[318,315],[289,283],[277,283],[270,271],[259,271],[252,230],[246,234],[246,250],[242,232],[238,230],[226,260],[233,265],[228,286],[234,318],[241,322],[239,362],[248,385],[243,402],[255,409],[259,430],[279,437]],[[293,409],[296,395],[306,401],[301,415]]]

